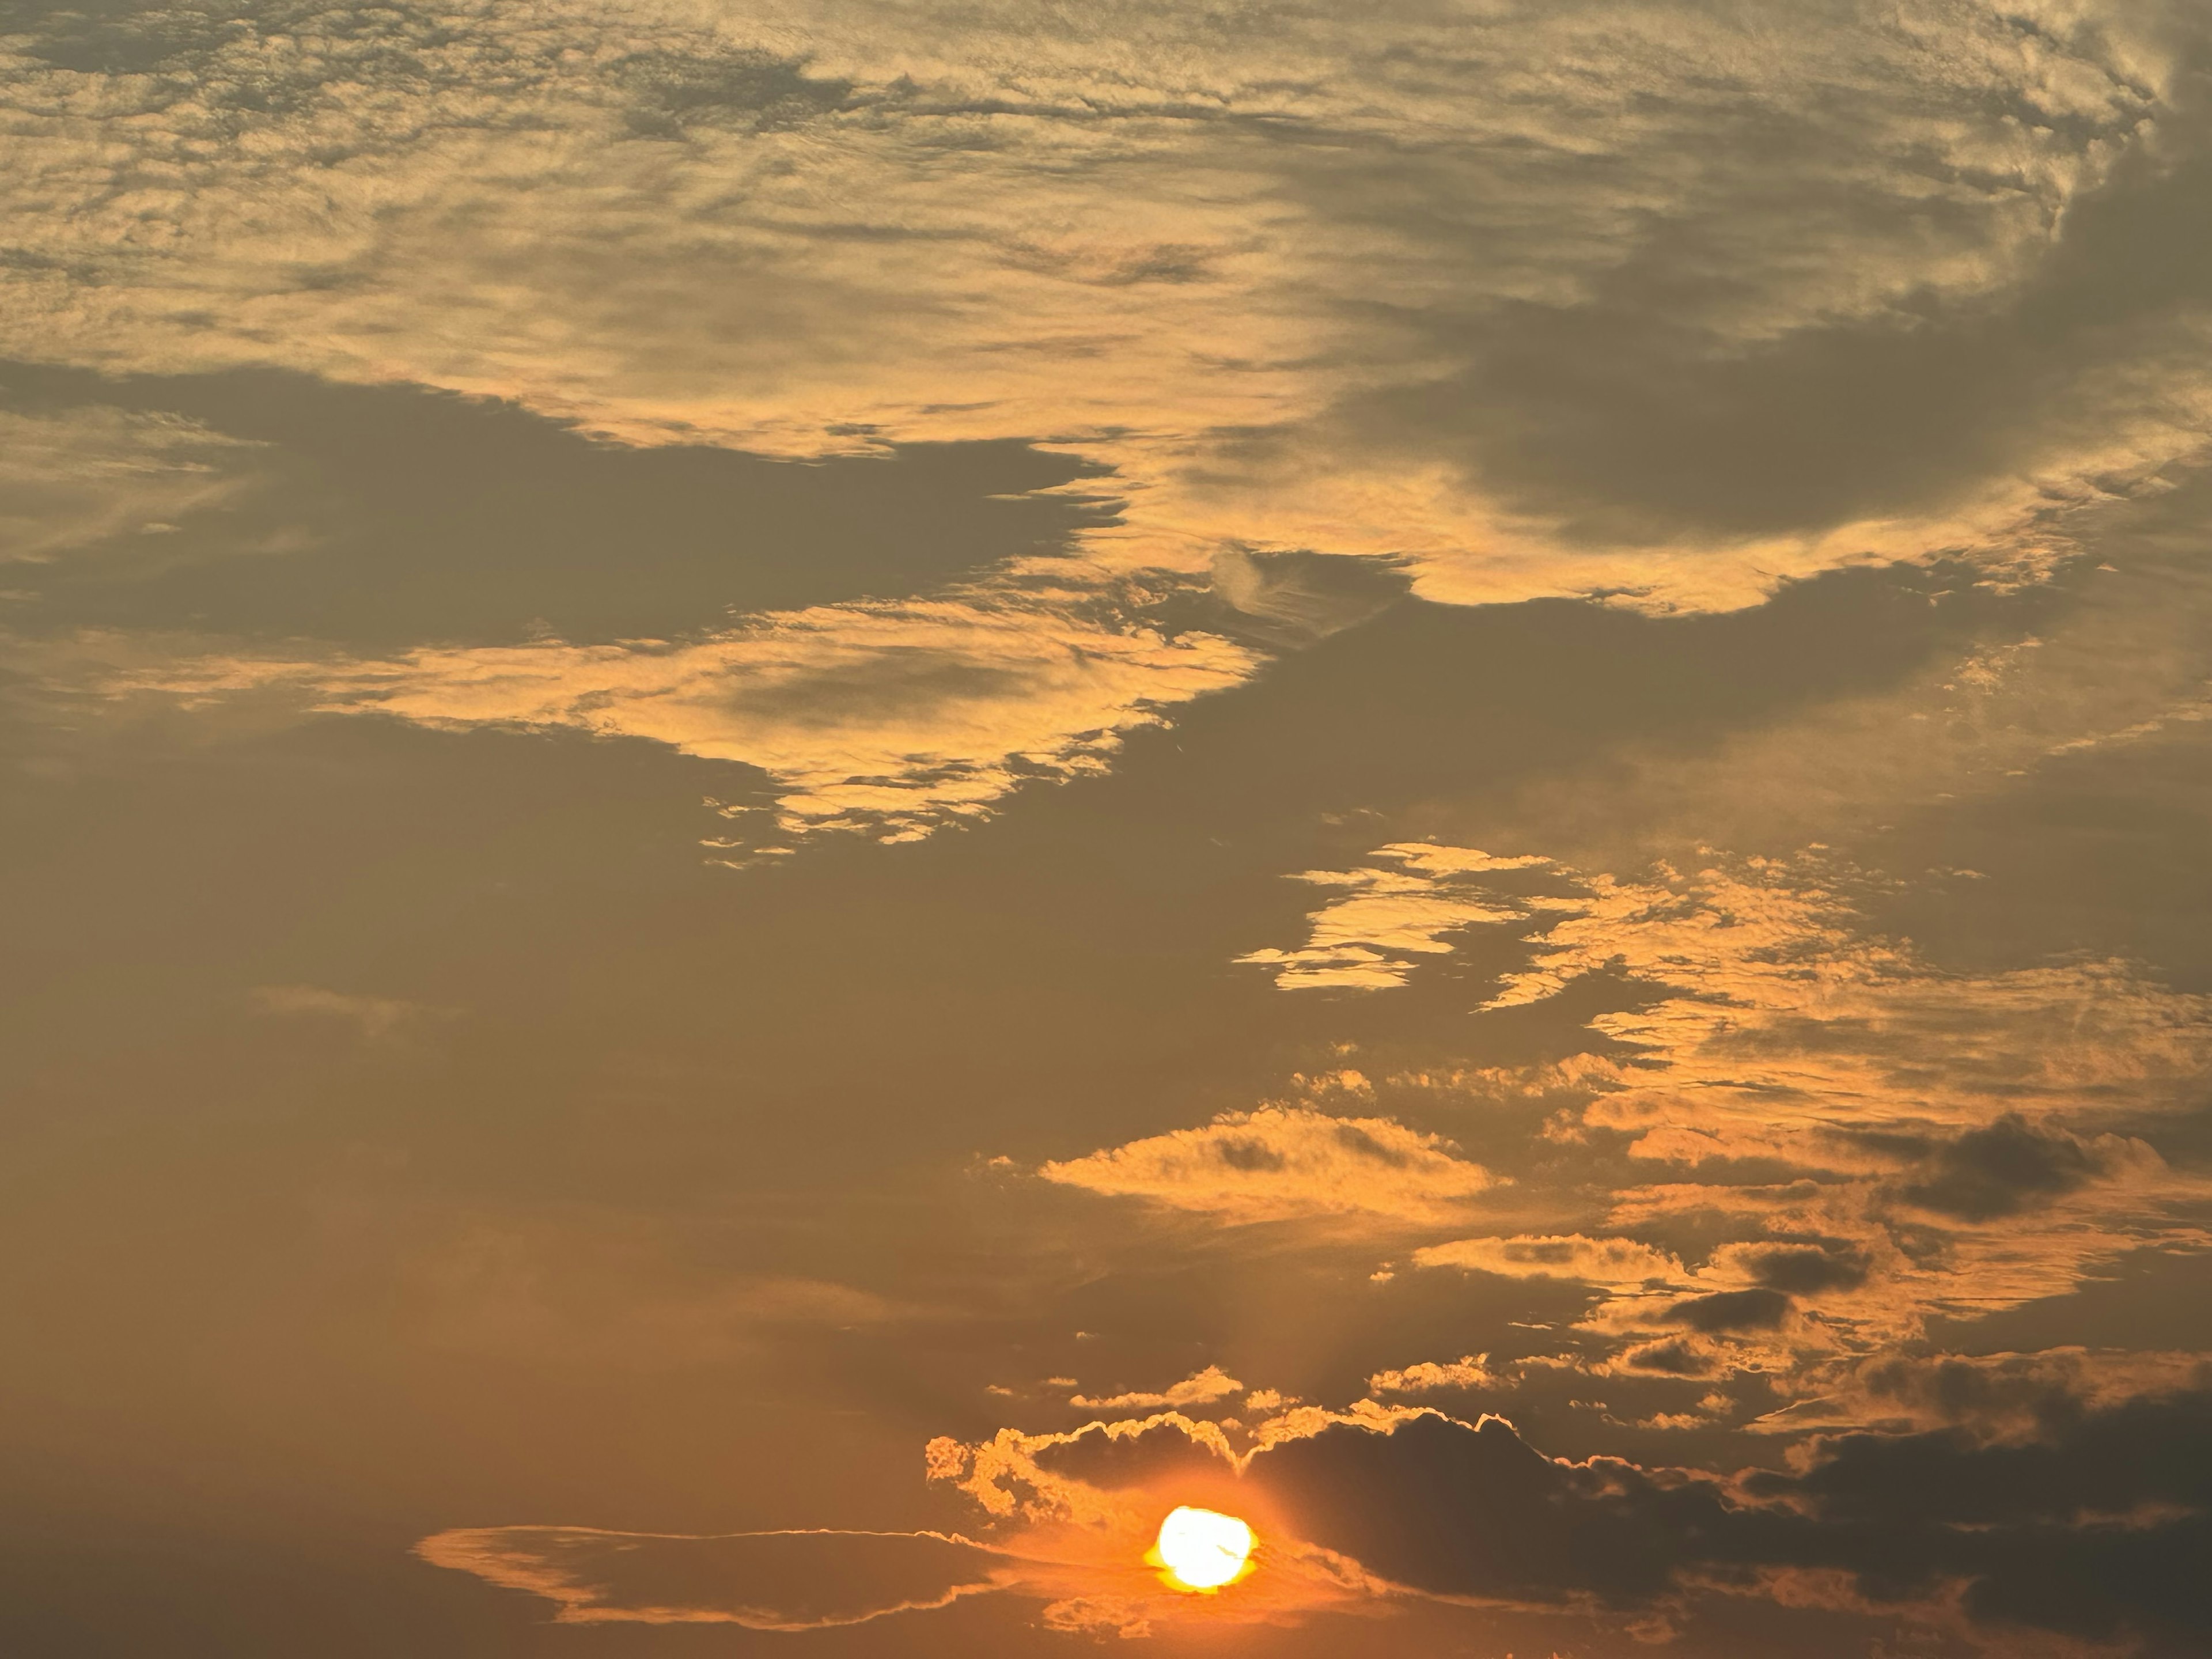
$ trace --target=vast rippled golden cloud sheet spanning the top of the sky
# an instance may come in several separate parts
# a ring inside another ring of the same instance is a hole
[[[783,453],[1075,438],[1137,487],[1102,546],[1183,571],[1710,608],[2035,568],[2205,385],[2157,241],[2190,31],[2031,13],[55,13],[0,64],[0,347]]]

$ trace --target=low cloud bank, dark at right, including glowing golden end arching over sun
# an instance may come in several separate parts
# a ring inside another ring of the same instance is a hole
[[[1880,1615],[1973,1652],[2192,1650],[2212,1630],[2194,1571],[2212,1498],[2201,1367],[2194,1389],[2170,1367],[2159,1389],[2084,1396],[2057,1380],[2075,1356],[2011,1358],[2048,1365],[2042,1394],[2066,1400],[2026,1436],[1847,1433],[1734,1478],[1551,1458],[1498,1416],[1371,1402],[1287,1413],[1243,1451],[1166,1413],[929,1455],[933,1478],[1022,1528],[1106,1533],[1170,1491],[1206,1493],[1325,1559],[1374,1613],[1418,1597],[1650,1630],[1728,1597]]]

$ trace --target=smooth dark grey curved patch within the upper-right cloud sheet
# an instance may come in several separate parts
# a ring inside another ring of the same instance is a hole
[[[2104,135],[2070,142],[2110,142],[2146,115],[2148,104],[2112,111]],[[2201,142],[2201,111],[2168,119],[2177,153]],[[1805,139],[1781,124],[1765,142],[1787,166]],[[2208,197],[2201,159],[2137,153],[2066,210],[2013,281],[1929,288],[1876,314],[1752,338],[1712,321],[1732,321],[1736,276],[1705,239],[1741,226],[1655,223],[1573,303],[1431,314],[1436,349],[1464,367],[1363,394],[1343,425],[1365,442],[1387,434],[1447,453],[1590,540],[1940,511],[1973,480],[2079,442],[2090,376],[2192,349],[2190,319],[2212,301]]]

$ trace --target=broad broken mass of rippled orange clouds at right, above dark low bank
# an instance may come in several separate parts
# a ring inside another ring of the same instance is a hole
[[[1604,1048],[1544,1071],[1562,1104],[1542,1137],[1617,1148],[1650,1177],[1615,1186],[1590,1232],[1411,1256],[1601,1287],[1579,1327],[1610,1352],[1599,1365],[1747,1369],[1814,1396],[1825,1365],[1933,1316],[2059,1296],[2135,1250],[2212,1248],[2203,1177],[2141,1139],[2197,1110],[2201,995],[2112,960],[1940,971],[1867,929],[1856,896],[1876,876],[1820,854],[1639,880],[1409,843],[1378,858],[1416,889],[1394,902],[1420,905],[1420,887],[1460,911],[1489,902],[1522,938],[1486,1011],[1621,987],[1588,1022]],[[1329,925],[1327,949],[1345,949],[1358,929],[1334,918],[1358,905],[1334,900],[1314,936]],[[1663,1243],[1683,1228],[1710,1239],[1703,1261]]]

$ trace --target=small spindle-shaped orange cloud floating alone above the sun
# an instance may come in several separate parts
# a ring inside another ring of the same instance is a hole
[[[1374,1217],[1438,1221],[1495,1186],[1438,1135],[1387,1117],[1327,1117],[1303,1106],[1225,1113],[1037,1175],[1108,1197],[1146,1199],[1225,1221]]]

